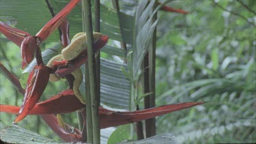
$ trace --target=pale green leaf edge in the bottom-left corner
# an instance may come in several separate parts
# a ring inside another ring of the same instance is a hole
[[[0,138],[7,143],[61,143],[45,138],[18,125],[13,124],[0,131]]]

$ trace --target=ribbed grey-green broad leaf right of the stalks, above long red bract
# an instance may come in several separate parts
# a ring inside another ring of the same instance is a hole
[[[106,59],[100,61],[100,101],[115,109],[129,107],[130,81],[122,72],[122,68],[127,70],[126,64]],[[85,81],[81,85],[81,92],[85,93],[82,87],[85,87]]]

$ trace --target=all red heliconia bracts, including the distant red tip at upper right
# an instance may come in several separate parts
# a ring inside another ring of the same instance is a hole
[[[74,129],[74,132],[69,132],[68,124],[59,124],[59,118],[55,115],[61,113],[71,113],[74,111],[81,111],[83,115],[83,128],[86,128],[86,114],[85,114],[85,104],[81,102],[75,96],[74,87],[74,76],[72,72],[77,70],[87,61],[87,49],[82,51],[79,55],[76,55],[73,59],[61,61],[54,61],[53,66],[48,67],[42,61],[42,54],[40,51],[40,44],[44,41],[55,29],[59,27],[61,29],[61,44],[63,48],[70,45],[69,40],[69,24],[66,20],[66,16],[71,12],[80,0],[71,0],[68,5],[66,5],[63,10],[61,10],[56,16],[54,16],[44,27],[34,36],[30,35],[25,31],[10,27],[3,22],[0,22],[0,32],[5,35],[6,38],[14,42],[20,47],[20,52],[22,56],[22,68],[25,68],[28,63],[30,63],[35,57],[37,61],[37,66],[31,70],[29,77],[27,79],[26,89],[20,86],[18,78],[9,72],[1,63],[1,70],[8,76],[10,81],[16,86],[20,93],[23,93],[24,100],[21,106],[10,106],[5,104],[0,104],[0,112],[17,114],[14,119],[14,123],[23,120],[27,115],[41,115],[42,119],[46,121],[46,124],[53,131],[58,134],[63,141],[66,142],[79,142],[85,141],[82,132],[78,129]],[[162,10],[167,10],[170,12],[180,12],[187,14],[183,10],[175,10],[173,8],[163,7]],[[100,48],[108,42],[108,35],[100,35],[100,37],[94,42],[94,51],[99,51]],[[85,42],[84,42],[85,43]],[[86,44],[85,44],[86,45]],[[38,102],[46,85],[48,83],[50,74],[55,74],[55,76],[66,78],[69,83],[69,89],[61,91],[56,96],[45,100],[43,102]],[[144,119],[150,119],[159,115],[164,115],[166,113],[171,113],[173,111],[180,111],[182,109],[187,109],[192,106],[203,104],[203,102],[184,102],[180,104],[167,104],[164,106],[154,107],[152,109],[145,109],[141,111],[132,112],[118,112],[110,111],[107,109],[99,108],[99,125],[100,128],[108,128],[112,126],[120,126],[123,124],[130,124],[137,121],[142,121]]]

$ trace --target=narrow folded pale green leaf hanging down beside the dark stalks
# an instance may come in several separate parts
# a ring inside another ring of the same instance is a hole
[[[139,70],[143,57],[148,51],[150,42],[152,40],[153,32],[158,20],[153,19],[154,1],[150,1],[147,5],[147,1],[140,1],[137,12],[134,31],[134,43],[132,49],[132,73],[133,77],[139,77]]]

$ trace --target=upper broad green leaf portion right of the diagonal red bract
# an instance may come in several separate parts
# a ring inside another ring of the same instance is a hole
[[[92,1],[93,2],[93,1]],[[63,8],[68,3],[68,0],[63,1],[51,1],[53,5],[53,10],[55,12],[59,12],[61,8]],[[91,3],[92,10],[94,10],[94,3]],[[76,8],[72,10],[70,15],[68,16],[68,20],[70,21],[70,35],[71,37],[75,33],[79,33],[82,31],[82,13],[81,13],[81,5],[76,5]],[[94,18],[94,12],[92,13]],[[121,30],[119,27],[119,20],[117,17],[117,13],[115,10],[111,10],[111,8],[107,8],[105,5],[100,5],[100,32],[106,35],[109,35],[111,39],[118,40],[122,42]],[[133,16],[129,16],[127,14],[122,14],[122,27],[124,29],[124,42],[128,44],[132,44],[132,26],[134,23]]]

